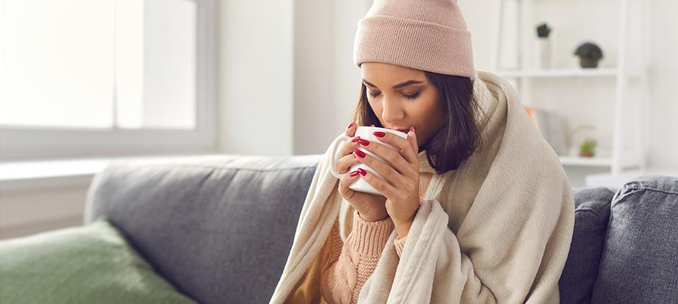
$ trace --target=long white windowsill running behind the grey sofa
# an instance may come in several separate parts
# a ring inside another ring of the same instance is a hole
[[[88,187],[92,177],[114,161],[169,160],[208,154],[0,162],[0,194]]]

